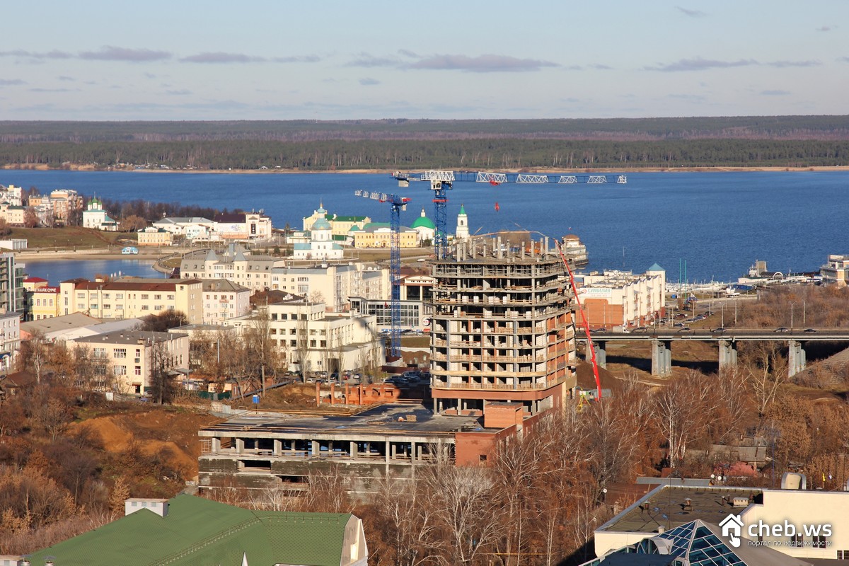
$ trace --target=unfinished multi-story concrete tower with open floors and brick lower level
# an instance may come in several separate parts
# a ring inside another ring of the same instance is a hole
[[[562,406],[575,387],[573,294],[556,248],[502,238],[459,242],[433,261],[434,412],[475,416],[492,401],[526,416]]]

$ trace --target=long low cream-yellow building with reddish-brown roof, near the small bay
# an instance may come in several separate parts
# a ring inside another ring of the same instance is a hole
[[[70,279],[60,283],[59,289],[62,314],[82,312],[97,318],[132,318],[182,311],[190,324],[203,322],[203,283],[198,279]]]

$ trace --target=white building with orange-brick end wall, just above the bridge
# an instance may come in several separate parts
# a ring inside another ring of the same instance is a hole
[[[590,328],[638,327],[663,317],[666,271],[656,263],[641,275],[611,270],[576,279]]]

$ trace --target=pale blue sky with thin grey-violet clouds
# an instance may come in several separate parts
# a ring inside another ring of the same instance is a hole
[[[849,2],[9,3],[0,120],[845,115]]]

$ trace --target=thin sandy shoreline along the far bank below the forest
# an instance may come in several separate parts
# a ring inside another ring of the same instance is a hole
[[[50,169],[47,165],[3,165],[3,170],[8,171],[61,171]],[[372,175],[391,175],[393,172],[390,169],[346,169],[342,171],[303,171],[300,169],[239,169],[239,170],[222,170],[222,169],[103,169],[93,165],[70,165],[70,171],[114,171],[127,173],[215,173],[222,175],[286,175],[291,173],[301,174],[316,174],[323,175],[326,173],[345,174],[372,174]],[[422,169],[403,170],[405,173],[418,174]],[[455,169],[454,171],[485,171],[481,170],[466,170]],[[696,172],[696,173],[713,173],[713,172],[745,172],[745,171],[784,171],[784,172],[799,172],[799,171],[849,171],[849,165],[834,165],[834,166],[813,166],[813,167],[627,167],[623,169],[554,169],[554,168],[523,168],[523,169],[498,169],[490,170],[499,173],[554,173],[562,175],[581,175],[587,173],[672,173],[672,172]]]

